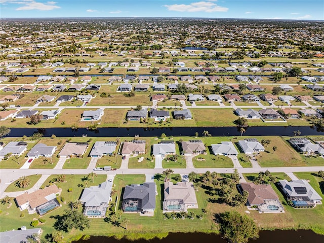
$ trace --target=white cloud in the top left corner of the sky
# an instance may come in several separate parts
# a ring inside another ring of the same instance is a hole
[[[60,9],[61,7],[56,6],[56,2],[48,1],[46,3],[39,3],[35,0],[0,0],[1,4],[9,3],[9,4],[19,4],[23,5],[17,8],[17,11],[21,10],[39,10],[39,11],[48,11],[54,9]]]

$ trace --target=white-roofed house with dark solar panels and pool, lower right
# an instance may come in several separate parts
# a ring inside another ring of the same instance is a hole
[[[306,180],[279,180],[279,186],[295,207],[313,207],[321,204],[322,197]]]

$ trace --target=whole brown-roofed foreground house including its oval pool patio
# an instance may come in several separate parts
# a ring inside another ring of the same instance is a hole
[[[237,188],[241,194],[245,191],[249,193],[247,206],[256,207],[260,213],[284,212],[284,207],[271,185],[256,185],[252,182],[245,182],[240,183]]]

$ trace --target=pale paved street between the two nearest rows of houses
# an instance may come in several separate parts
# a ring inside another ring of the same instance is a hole
[[[238,173],[258,173],[260,171],[269,170],[270,172],[317,172],[324,170],[324,166],[307,166],[307,167],[270,167],[270,168],[237,168]],[[115,175],[117,174],[147,174],[154,175],[156,173],[162,173],[165,169],[117,169],[112,171],[96,171],[98,175]],[[197,173],[205,173],[207,170],[217,173],[232,173],[234,168],[185,168],[185,169],[173,169],[175,173],[180,175],[188,174],[191,171]],[[1,170],[1,183],[0,183],[0,198],[5,196],[4,193],[7,186],[12,180],[17,180],[21,176],[30,175],[88,175],[92,169],[2,169]]]

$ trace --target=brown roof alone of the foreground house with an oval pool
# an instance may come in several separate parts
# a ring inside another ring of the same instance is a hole
[[[279,199],[271,185],[255,185],[254,183],[241,183],[243,191],[249,192],[250,205],[262,204],[266,199]]]

